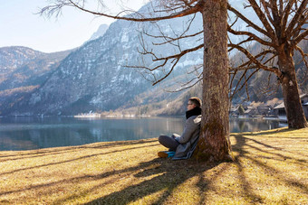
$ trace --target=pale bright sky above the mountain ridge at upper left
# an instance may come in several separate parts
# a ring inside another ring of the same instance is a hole
[[[93,1],[95,0],[88,0]],[[147,1],[104,2],[109,7],[106,11],[117,14],[120,4],[137,11]],[[48,18],[35,14],[45,5],[48,5],[47,0],[0,0],[0,47],[25,46],[43,52],[65,51],[81,46],[101,24],[115,21],[86,14],[72,7],[64,8],[58,17]]]

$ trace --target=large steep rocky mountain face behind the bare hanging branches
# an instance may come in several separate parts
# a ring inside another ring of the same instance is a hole
[[[141,8],[146,9],[147,6]],[[199,16],[200,17],[200,16]],[[141,65],[144,62],[149,67],[157,65],[152,61],[152,56],[145,56],[141,59],[139,51],[140,33],[146,31],[153,35],[161,35],[160,32],[168,36],[175,33],[182,33],[188,19],[180,18],[176,20],[163,21],[159,23],[131,23],[127,21],[117,21],[111,23],[109,29],[100,38],[91,42],[86,42],[76,51],[72,51],[60,65],[51,73],[43,85],[34,90],[29,98],[24,98],[18,104],[14,104],[9,112],[14,115],[75,115],[83,112],[109,111],[118,107],[134,106],[135,98],[142,93],[150,93],[158,88],[153,88],[147,70],[128,68],[128,65]],[[202,22],[198,18],[196,25],[191,32],[196,32],[197,23]],[[172,24],[172,26],[171,26]],[[157,26],[159,25],[159,29]],[[188,33],[189,34],[189,33]],[[150,42],[161,42],[149,35],[143,35],[144,46],[153,49],[161,55],[172,55],[178,49],[186,49],[199,44],[197,38],[189,41],[182,41],[181,48],[163,44],[152,46]],[[160,83],[160,88],[176,85],[173,78],[186,73],[186,70],[196,63],[202,63],[202,50],[194,54],[188,54],[185,59],[178,62],[178,66],[168,79]],[[167,70],[156,70],[155,78],[163,77],[165,72],[171,68],[167,63]],[[148,79],[146,79],[148,78]],[[179,79],[186,78],[178,77]],[[169,96],[177,96],[170,94]],[[150,101],[157,101],[166,98],[167,95],[158,95],[156,98],[149,98]],[[160,96],[160,98],[159,98]],[[143,100],[140,104],[149,103]]]

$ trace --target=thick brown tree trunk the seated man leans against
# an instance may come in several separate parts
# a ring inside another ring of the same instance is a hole
[[[227,57],[227,0],[206,0],[203,7],[203,106],[197,160],[228,158],[229,99]]]

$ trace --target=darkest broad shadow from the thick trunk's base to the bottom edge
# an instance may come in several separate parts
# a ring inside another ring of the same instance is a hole
[[[157,166],[147,169],[151,164],[156,164]],[[161,204],[180,184],[215,166],[217,166],[217,163],[201,165],[193,160],[172,161],[159,158],[147,163],[140,163],[140,166],[135,167],[135,171],[142,171],[134,176],[137,178],[154,176],[153,178],[130,185],[123,190],[112,192],[87,204],[128,204],[162,191],[159,197],[151,202],[151,204]],[[204,184],[207,184],[207,182],[199,182],[200,187],[205,188]]]

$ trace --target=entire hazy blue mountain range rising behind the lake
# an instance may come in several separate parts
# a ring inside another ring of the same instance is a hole
[[[230,1],[231,4],[241,4],[240,2]],[[243,8],[241,6],[238,9]],[[145,5],[139,14],[145,14],[148,10],[149,5]],[[188,32],[187,26],[190,26]],[[241,28],[241,23],[236,26]],[[0,95],[5,100],[0,101],[0,115],[71,116],[111,110],[147,114],[150,109],[157,110],[153,112],[157,115],[183,113],[183,102],[192,95],[201,96],[201,87],[176,93],[165,92],[164,89],[178,89],[179,85],[196,77],[201,70],[194,70],[193,66],[203,63],[203,50],[188,53],[178,61],[175,68],[172,68],[170,61],[166,61],[166,66],[161,69],[159,61],[152,60],[196,47],[202,43],[203,35],[192,34],[200,29],[200,14],[158,23],[117,21],[111,23],[101,37],[85,42],[80,48],[65,52],[65,55],[63,53],[61,58],[55,58],[53,53],[46,54],[31,49],[22,52],[17,48],[10,48],[11,54],[0,52],[0,83],[3,82],[0,84]],[[191,37],[178,42],[162,43],[183,32]],[[236,36],[230,38],[232,42],[239,41]],[[140,54],[145,52],[144,49],[148,51],[147,55]],[[62,53],[56,54],[60,57]],[[32,63],[34,66],[30,66]],[[152,72],[152,75],[149,70],[131,68],[134,66],[159,69]],[[173,71],[168,78],[155,87],[152,86],[153,81],[164,78],[171,69]],[[263,75],[261,77],[265,79]],[[255,76],[251,79],[251,85],[254,85],[251,90],[258,88],[256,79],[260,78]],[[241,96],[236,98],[240,99]]]

